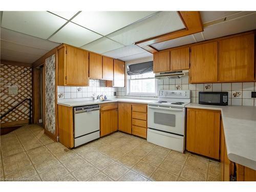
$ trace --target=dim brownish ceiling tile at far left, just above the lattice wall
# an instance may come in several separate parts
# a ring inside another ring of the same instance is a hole
[[[8,49],[4,49],[1,46],[1,59],[3,59],[3,60],[33,63],[38,58],[40,58],[40,56],[38,56],[38,55],[8,50]]]

